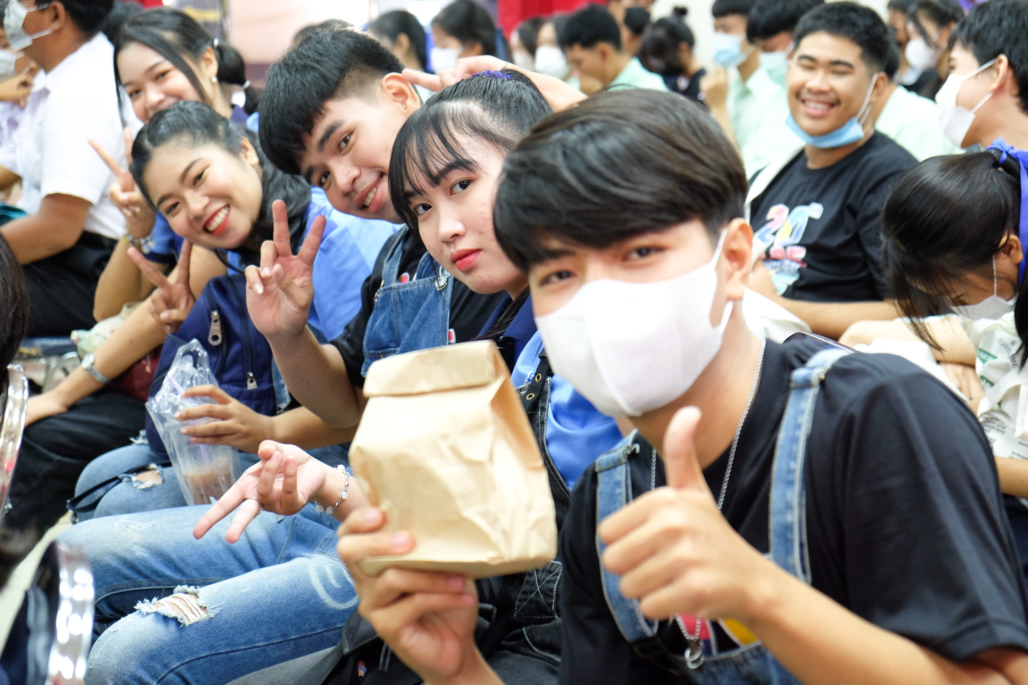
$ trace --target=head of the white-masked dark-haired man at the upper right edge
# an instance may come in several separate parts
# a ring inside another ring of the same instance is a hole
[[[988,147],[1001,138],[1028,150],[1028,5],[985,3],[957,24],[935,103],[954,145]]]

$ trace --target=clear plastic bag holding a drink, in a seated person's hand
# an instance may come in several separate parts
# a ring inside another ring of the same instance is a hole
[[[211,372],[207,350],[192,340],[175,353],[160,389],[146,403],[146,410],[172,460],[182,494],[190,505],[217,500],[232,486],[240,472],[238,454],[231,447],[194,445],[182,434],[186,425],[214,420],[207,418],[182,422],[175,418],[184,409],[214,402],[210,397],[182,396],[183,392],[197,385],[218,385],[218,380]]]

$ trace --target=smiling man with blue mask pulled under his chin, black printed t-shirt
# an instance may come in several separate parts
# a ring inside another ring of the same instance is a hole
[[[750,187],[754,290],[838,338],[854,321],[893,318],[882,276],[880,214],[916,163],[874,129],[890,37],[874,10],[832,2],[808,12],[786,73],[790,126],[804,141]]]

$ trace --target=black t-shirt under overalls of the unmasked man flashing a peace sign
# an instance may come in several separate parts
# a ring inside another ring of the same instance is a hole
[[[425,255],[425,245],[421,243],[416,231],[405,231],[404,243],[400,246],[400,273],[413,275],[417,270],[417,263]],[[361,310],[351,319],[342,334],[332,341],[342,360],[346,365],[346,375],[354,387],[364,387],[364,376],[361,375],[361,367],[364,366],[364,332],[368,328],[368,319],[371,318],[371,310],[375,306],[375,293],[378,292],[382,282],[382,267],[386,265],[386,256],[393,248],[401,232],[393,234],[386,244],[382,245],[375,266],[371,274],[365,278],[361,287]],[[492,310],[506,297],[506,293],[500,292],[495,295],[479,295],[471,291],[458,279],[453,278],[453,294],[450,299],[450,320],[449,327],[453,330],[456,342],[474,340],[482,326],[488,320]]]

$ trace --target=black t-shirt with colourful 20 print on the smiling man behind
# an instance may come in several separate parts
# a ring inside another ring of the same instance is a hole
[[[764,264],[779,292],[812,302],[888,297],[881,269],[881,212],[896,178],[917,163],[882,134],[831,166],[801,152],[750,205]]]

